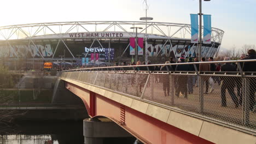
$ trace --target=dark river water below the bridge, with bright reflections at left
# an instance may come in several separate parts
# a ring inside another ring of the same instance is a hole
[[[4,133],[8,131],[8,133]],[[83,144],[83,122],[20,122],[0,127],[0,144]],[[135,138],[104,139],[104,143],[135,143]]]

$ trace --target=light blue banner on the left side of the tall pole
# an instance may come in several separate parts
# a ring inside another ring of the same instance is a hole
[[[191,20],[191,43],[198,43],[198,15],[190,14]]]

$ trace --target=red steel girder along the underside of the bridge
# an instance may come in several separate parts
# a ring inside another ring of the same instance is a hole
[[[144,143],[212,143],[88,89],[69,82],[66,88],[83,100],[90,117],[108,117]]]

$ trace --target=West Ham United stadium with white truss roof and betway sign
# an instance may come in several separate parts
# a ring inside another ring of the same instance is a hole
[[[150,61],[162,57],[197,57],[191,43],[191,27],[184,23],[145,21],[75,21],[30,23],[0,27],[0,56],[6,62],[25,61],[89,62],[131,61],[130,38],[143,38],[138,57]],[[224,31],[212,28],[211,44],[202,44],[202,57],[217,55]],[[147,40],[147,44],[146,44]],[[94,54],[92,54],[94,53]],[[157,60],[156,60],[157,61]],[[86,62],[88,63],[88,62]]]

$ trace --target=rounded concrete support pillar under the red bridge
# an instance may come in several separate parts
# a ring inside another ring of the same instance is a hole
[[[84,143],[102,144],[104,138],[133,137],[108,118],[84,119]]]

